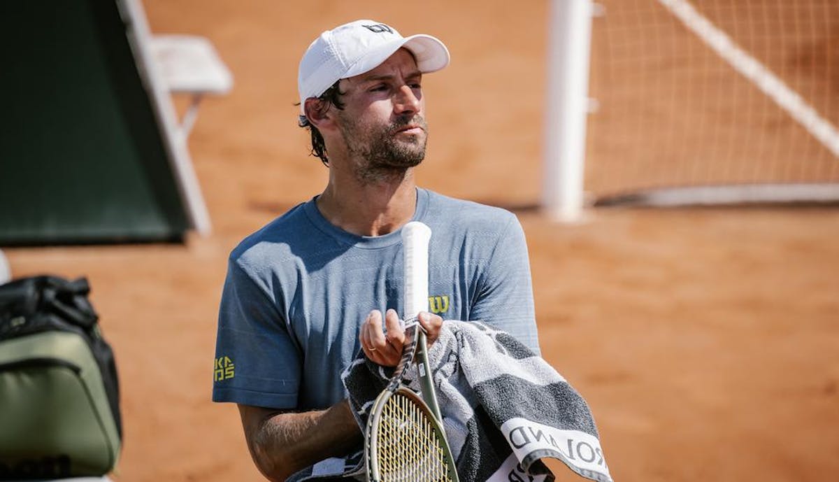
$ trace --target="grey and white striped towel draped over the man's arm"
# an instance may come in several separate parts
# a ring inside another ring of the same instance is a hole
[[[587,479],[612,481],[586,401],[508,333],[480,322],[446,320],[429,359],[461,482],[553,480],[542,458],[557,458]],[[392,375],[363,353],[344,371],[360,427],[366,427],[368,411]],[[403,376],[420,391],[415,366]],[[294,480],[363,480],[361,455],[327,459]]]

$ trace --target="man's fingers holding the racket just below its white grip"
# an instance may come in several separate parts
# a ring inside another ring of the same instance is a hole
[[[420,312],[419,318],[430,347],[440,336],[443,318],[428,312]],[[385,313],[384,325],[387,333],[382,328],[382,312],[373,310],[362,323],[358,341],[362,343],[362,349],[368,359],[382,366],[396,366],[402,358],[405,333],[399,326],[399,315],[393,309]]]

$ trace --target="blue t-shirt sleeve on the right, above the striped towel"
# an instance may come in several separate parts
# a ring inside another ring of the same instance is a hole
[[[513,214],[482,272],[471,318],[509,333],[540,354],[527,241]]]

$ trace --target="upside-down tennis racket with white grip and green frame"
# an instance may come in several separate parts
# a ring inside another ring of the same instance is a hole
[[[373,402],[365,431],[369,482],[458,482],[443,431],[425,333],[417,315],[428,311],[428,245],[431,229],[411,222],[402,228],[405,283],[405,344],[393,378]],[[404,369],[418,360],[422,398],[402,385]]]

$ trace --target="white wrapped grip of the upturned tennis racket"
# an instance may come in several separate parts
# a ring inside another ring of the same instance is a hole
[[[428,246],[431,228],[411,221],[402,228],[405,320],[428,311]]]

